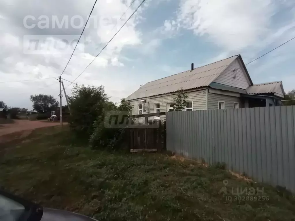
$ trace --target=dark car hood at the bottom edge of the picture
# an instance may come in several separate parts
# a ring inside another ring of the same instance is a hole
[[[94,219],[64,210],[44,208],[43,216],[40,221],[94,221]]]

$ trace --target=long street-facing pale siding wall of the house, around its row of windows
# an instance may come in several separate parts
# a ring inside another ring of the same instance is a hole
[[[206,91],[204,93],[203,91]],[[206,110],[207,109],[207,102],[206,102],[206,95],[208,93],[208,89],[201,89],[196,91],[187,92],[188,99],[187,101],[193,102],[193,110]],[[150,113],[155,113],[154,106],[155,104],[160,104],[160,112],[167,111],[167,103],[173,103],[173,98],[175,97],[176,93],[171,93],[168,95],[158,95],[152,98],[140,98],[138,100],[130,101],[131,105],[133,105],[132,115],[138,114],[138,105],[141,104],[140,100],[146,100],[150,102],[146,104],[146,112],[150,111]],[[160,116],[160,119],[163,120],[165,116]],[[144,118],[140,119],[139,122],[144,122]]]

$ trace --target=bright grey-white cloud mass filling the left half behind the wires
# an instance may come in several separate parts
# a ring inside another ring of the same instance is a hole
[[[126,61],[126,55],[122,50],[142,44],[142,32],[137,26],[142,21],[141,13],[148,7],[149,1],[146,2],[78,78],[79,84],[105,85],[106,92],[109,92],[110,96],[119,95],[120,98],[127,97],[133,92],[132,90],[137,87],[133,85],[136,84],[136,80],[130,83],[129,79],[124,78],[130,73],[125,69],[123,61]],[[89,65],[106,42],[132,14],[140,1],[136,0],[122,20],[118,21],[130,3],[131,0],[98,1],[92,14],[93,17],[89,20],[81,42],[63,74],[65,79],[72,81]],[[1,91],[5,90],[8,94],[6,96],[8,105],[28,106],[31,103],[29,96],[35,93],[53,94],[57,98],[59,94],[58,81],[54,78],[45,78],[61,74],[73,52],[73,47],[62,47],[65,46],[63,40],[65,37],[80,36],[83,25],[79,28],[73,28],[70,23],[68,27],[65,24],[59,26],[52,20],[52,17],[56,17],[58,22],[61,22],[64,17],[71,20],[72,17],[78,16],[85,23],[86,16],[89,15],[92,6],[93,1],[79,0],[42,2],[37,0],[26,2],[3,0],[0,2],[1,82],[35,79],[1,83]],[[35,18],[35,20],[28,19],[28,25],[35,24],[32,29],[24,27],[24,17],[27,15]],[[38,27],[39,16],[49,18],[48,29]],[[79,19],[75,21],[79,22]],[[53,23],[55,23],[55,28],[53,28]],[[117,26],[112,30],[116,23]],[[27,35],[42,38],[38,49],[32,54],[25,51],[27,45],[24,37]],[[49,44],[50,41],[55,44]],[[127,84],[129,87],[126,90]],[[65,86],[67,86],[66,82]],[[70,93],[71,87],[66,89],[68,93]],[[117,97],[115,99],[118,100]]]

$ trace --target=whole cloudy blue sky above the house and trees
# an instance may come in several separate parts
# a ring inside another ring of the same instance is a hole
[[[89,65],[141,2],[135,0],[128,9],[131,1],[97,1],[62,75],[65,80],[73,81]],[[0,100],[31,108],[30,95],[59,99],[55,78],[63,72],[93,4],[0,1]],[[117,102],[140,85],[189,70],[191,63],[199,67],[238,54],[248,63],[293,37],[291,0],[146,0],[75,83],[104,85],[110,100]],[[247,65],[253,83],[282,80],[285,91],[292,90],[294,51],[295,39]],[[65,80],[71,95],[73,84],[68,87]]]

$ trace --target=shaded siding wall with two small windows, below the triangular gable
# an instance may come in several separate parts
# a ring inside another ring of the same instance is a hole
[[[224,108],[234,108],[234,102],[239,103],[239,108],[244,107],[238,97],[208,93],[208,109],[218,109],[218,101],[224,101]]]

